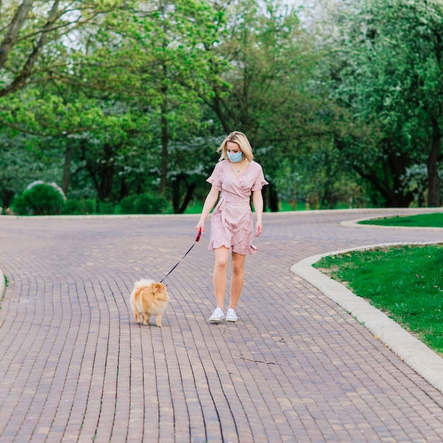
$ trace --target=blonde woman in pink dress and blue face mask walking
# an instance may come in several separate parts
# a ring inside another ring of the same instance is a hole
[[[251,193],[255,209],[255,236],[262,232],[263,197],[261,189],[267,185],[262,167],[253,161],[251,145],[246,135],[231,132],[217,149],[219,163],[207,181],[212,188],[206,197],[197,230],[205,231],[205,219],[212,212],[209,251],[214,251],[214,292],[217,308],[209,317],[210,323],[225,318],[224,293],[226,292],[226,270],[231,254],[231,286],[226,321],[237,321],[236,305],[243,287],[243,267],[246,255],[257,251],[253,246],[253,216]]]

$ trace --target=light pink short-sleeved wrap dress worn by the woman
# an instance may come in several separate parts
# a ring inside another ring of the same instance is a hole
[[[229,160],[222,160],[207,181],[220,191],[219,202],[212,212],[209,251],[226,246],[241,255],[257,252],[252,244],[254,228],[250,199],[252,191],[267,185],[262,167],[251,161],[237,177]]]

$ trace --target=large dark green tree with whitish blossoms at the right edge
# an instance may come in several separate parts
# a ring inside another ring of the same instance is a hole
[[[333,29],[339,37],[328,40],[328,87],[363,130],[350,126],[336,135],[336,146],[387,206],[413,201],[404,177],[427,162],[428,204],[439,205],[442,7],[434,1],[343,3]]]

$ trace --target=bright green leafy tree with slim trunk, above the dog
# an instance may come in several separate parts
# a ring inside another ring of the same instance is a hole
[[[202,46],[208,39],[212,42],[217,23],[206,1],[164,0],[149,8],[146,2],[141,4],[145,8],[132,11],[126,20],[121,14],[108,17],[100,32],[84,41],[88,47],[84,69],[67,81],[79,84],[79,78],[87,79],[84,83],[106,91],[107,100],[146,115],[148,124],[134,128],[130,137],[146,134],[144,149],[150,152],[146,168],[159,178],[159,192],[173,192],[176,200],[181,189],[178,178],[182,183],[187,180],[183,164],[171,154],[184,146],[180,137],[192,138],[200,126],[202,103],[190,85],[208,69]],[[171,163],[176,171],[170,170]],[[190,190],[184,201],[190,200]],[[183,210],[183,204],[174,207]]]

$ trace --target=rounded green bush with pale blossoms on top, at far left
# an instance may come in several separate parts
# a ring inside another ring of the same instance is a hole
[[[64,197],[54,186],[41,183],[16,197],[12,207],[20,215],[56,215],[64,208]]]

